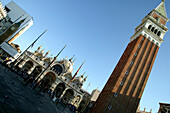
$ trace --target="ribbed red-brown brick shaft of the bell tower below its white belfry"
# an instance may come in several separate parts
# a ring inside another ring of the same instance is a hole
[[[135,113],[158,49],[158,46],[142,35],[130,42],[91,113]],[[127,70],[129,73],[126,75]],[[117,97],[115,93],[118,93]],[[112,107],[109,110],[110,105]]]

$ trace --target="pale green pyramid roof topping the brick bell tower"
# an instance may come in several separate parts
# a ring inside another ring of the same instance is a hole
[[[162,16],[168,18],[166,14],[166,9],[165,9],[165,0],[162,0],[162,2],[155,8],[155,10],[158,13],[161,13]]]

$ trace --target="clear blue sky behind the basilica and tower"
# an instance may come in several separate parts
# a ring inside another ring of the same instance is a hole
[[[11,0],[2,0],[3,4]],[[83,88],[102,90],[111,72],[141,20],[161,0],[13,0],[34,19],[34,25],[14,41],[26,49],[45,29],[48,31],[34,45],[56,55],[67,44],[59,59],[76,56],[74,71],[86,60],[78,75],[86,72]],[[165,1],[170,15],[170,1]],[[170,28],[170,23],[167,24]],[[160,46],[141,99],[141,109],[153,113],[159,102],[170,103],[170,32]],[[49,55],[49,56],[50,56]]]

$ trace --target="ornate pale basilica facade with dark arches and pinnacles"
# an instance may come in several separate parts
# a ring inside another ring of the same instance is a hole
[[[38,47],[34,53],[26,51],[18,59],[17,66],[35,79],[39,77],[38,82],[51,89],[56,98],[78,108],[84,95],[81,88],[87,77],[83,74],[73,78],[73,58],[55,60],[50,65],[54,58],[47,57],[49,51],[44,53],[41,47]]]

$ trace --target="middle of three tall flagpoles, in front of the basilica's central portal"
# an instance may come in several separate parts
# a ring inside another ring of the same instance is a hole
[[[53,61],[44,69],[44,71],[42,71],[40,73],[40,75],[35,79],[35,83],[36,85],[33,87],[33,89],[35,89],[39,83],[38,80],[40,79],[40,77],[44,74],[44,72],[51,66],[51,64],[53,64],[53,62],[57,59],[57,57],[61,54],[61,52],[64,50],[64,48],[66,47],[66,45],[61,49],[61,51],[54,57]]]

